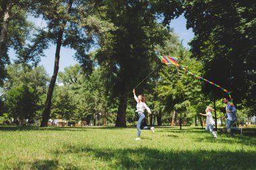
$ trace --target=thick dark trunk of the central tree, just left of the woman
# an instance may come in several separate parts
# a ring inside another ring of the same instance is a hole
[[[127,92],[125,88],[120,95],[116,127],[126,127]]]

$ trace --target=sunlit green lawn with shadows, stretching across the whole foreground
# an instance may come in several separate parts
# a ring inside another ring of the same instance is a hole
[[[256,129],[218,139],[195,127],[0,126],[0,169],[256,169]]]

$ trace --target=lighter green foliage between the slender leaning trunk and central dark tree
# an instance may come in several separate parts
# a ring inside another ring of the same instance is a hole
[[[69,102],[75,106],[73,119],[84,120],[98,113],[102,113],[104,117],[106,114],[112,114],[111,109],[108,109],[110,101],[104,73],[101,67],[96,67],[91,75],[85,75],[79,65],[67,67],[65,72],[59,73],[59,83],[63,83],[63,88],[65,87],[72,96]]]

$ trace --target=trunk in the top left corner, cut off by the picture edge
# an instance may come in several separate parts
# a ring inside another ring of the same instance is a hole
[[[7,38],[7,28],[8,28],[8,22],[9,22],[9,11],[11,10],[11,5],[8,4],[8,2],[5,0],[3,1],[3,4],[1,5],[2,12],[1,12],[1,19],[3,19],[3,22],[1,24],[1,34],[0,34],[0,57],[2,57],[5,54],[5,47],[6,47],[6,38]]]

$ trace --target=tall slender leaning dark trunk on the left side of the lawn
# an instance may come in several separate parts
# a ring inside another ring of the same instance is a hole
[[[67,8],[67,12],[71,12],[71,7],[73,4],[73,0],[69,0],[69,7]],[[61,45],[62,45],[62,38],[63,38],[63,32],[65,29],[65,25],[67,24],[67,21],[63,21],[63,27],[59,29],[58,33],[58,38],[57,38],[57,45],[56,45],[56,52],[55,52],[55,65],[54,65],[54,71],[53,71],[53,76],[51,78],[51,83],[49,85],[47,97],[46,97],[46,102],[45,102],[45,107],[44,107],[44,112],[42,115],[42,122],[40,127],[46,127],[47,122],[49,120],[50,112],[51,112],[51,103],[52,103],[52,97],[53,97],[53,89],[55,87],[57,75],[59,72],[59,58],[60,58],[60,52],[61,52]]]

